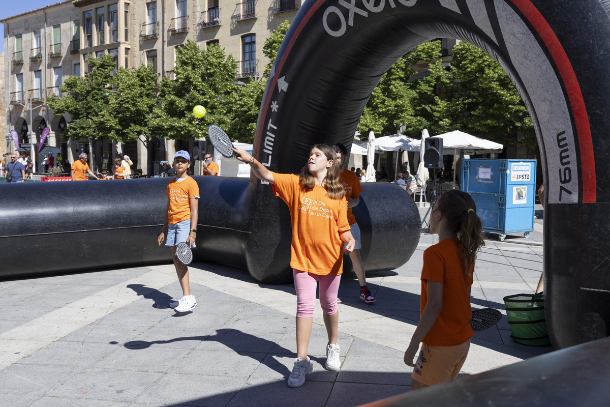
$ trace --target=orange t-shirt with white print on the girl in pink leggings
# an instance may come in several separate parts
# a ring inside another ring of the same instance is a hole
[[[273,179],[273,192],[290,210],[290,267],[321,276],[340,275],[343,241],[339,232],[350,230],[345,198],[329,198],[321,185],[306,191],[298,175],[273,173]]]

